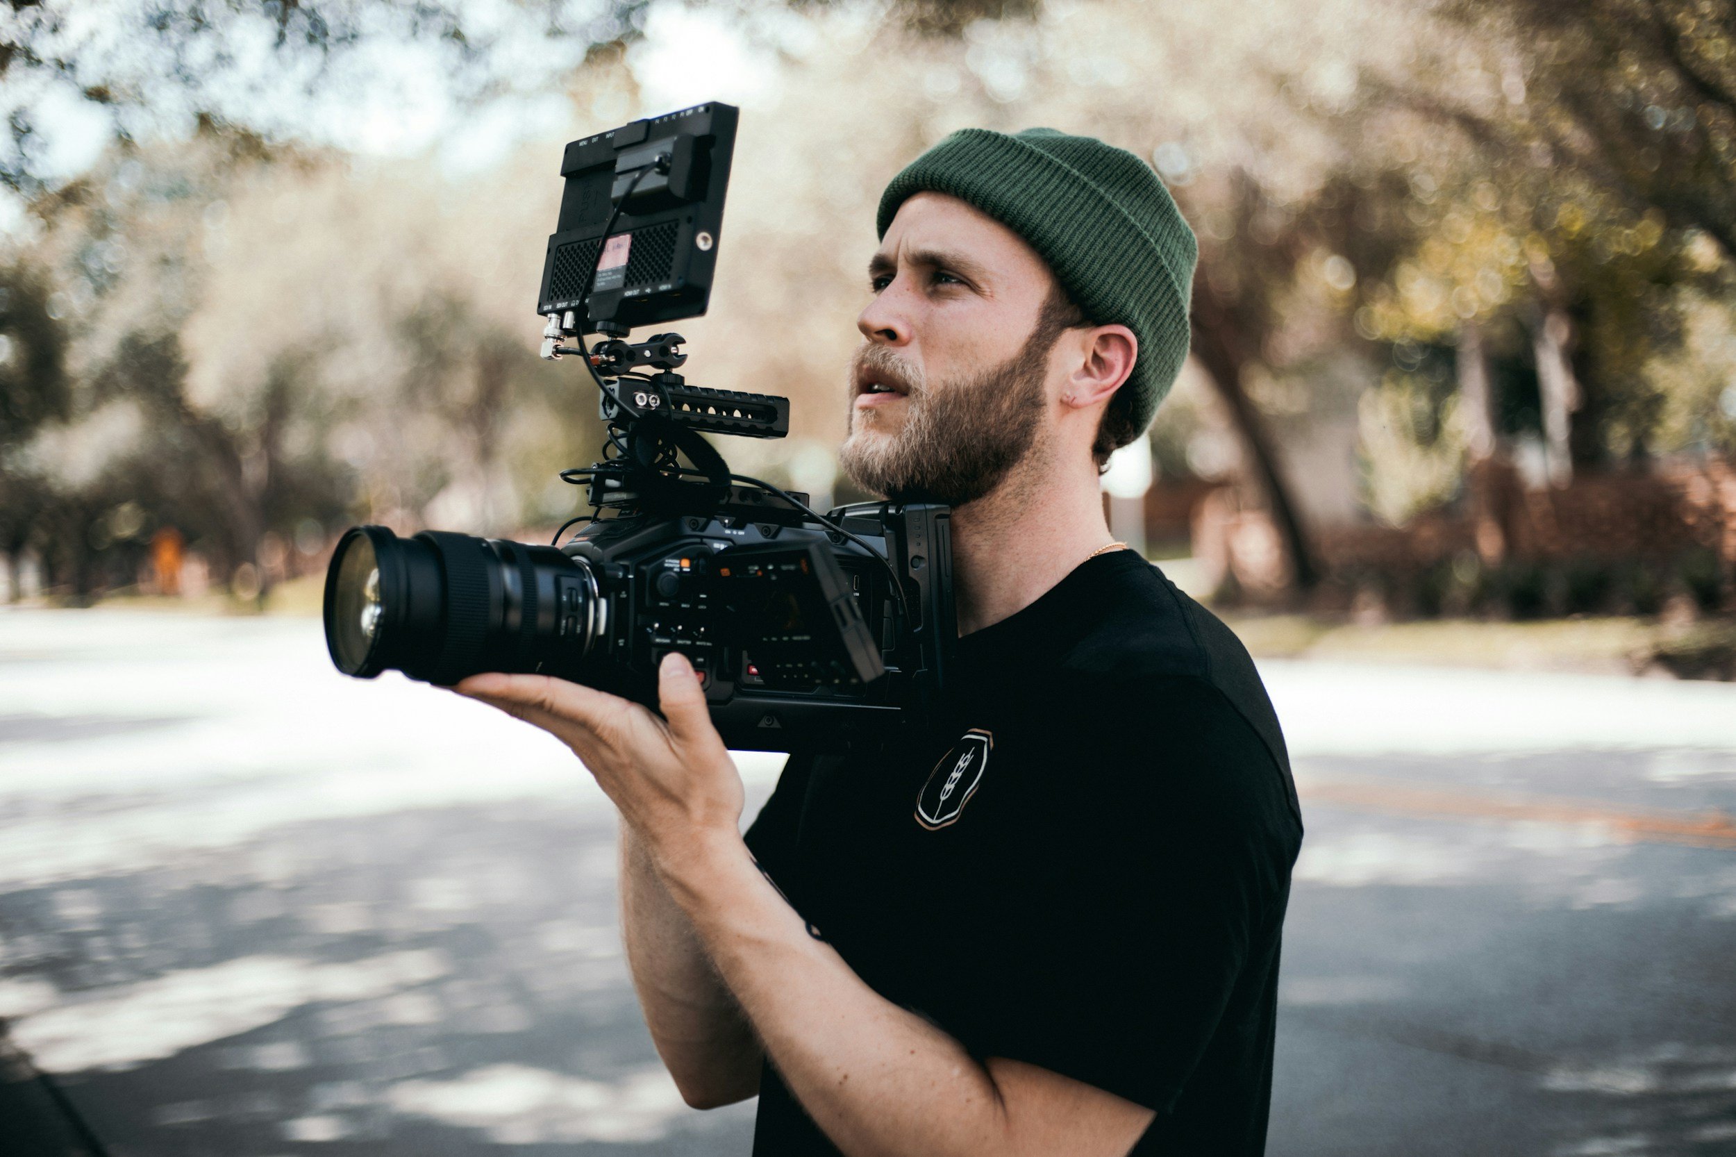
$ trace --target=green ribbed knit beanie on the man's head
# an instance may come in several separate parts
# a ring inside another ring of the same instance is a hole
[[[1200,247],[1151,167],[1095,137],[1054,129],[960,129],[892,177],[880,236],[915,193],[976,205],[1038,252],[1099,325],[1125,325],[1139,358],[1134,426],[1146,429],[1187,358],[1187,301]]]

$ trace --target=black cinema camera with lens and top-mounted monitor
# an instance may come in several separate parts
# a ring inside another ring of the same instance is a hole
[[[681,334],[627,340],[705,313],[734,139],[712,102],[566,146],[536,311],[542,356],[580,356],[602,391],[604,457],[561,474],[590,512],[554,545],[351,528],[325,585],[339,671],[543,672],[654,707],[679,650],[745,750],[833,750],[934,709],[957,636],[948,507],[821,516],[731,474],[700,434],[783,438],[788,400],[689,386]]]

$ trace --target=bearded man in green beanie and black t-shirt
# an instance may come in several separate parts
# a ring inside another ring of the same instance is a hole
[[[1111,542],[1097,483],[1186,356],[1193,233],[1139,158],[1042,129],[948,137],[878,224],[840,460],[955,507],[944,719],[792,757],[743,841],[682,658],[663,719],[458,690],[618,804],[651,1035],[691,1105],[759,1093],[755,1154],[1259,1154],[1288,757],[1246,651]]]

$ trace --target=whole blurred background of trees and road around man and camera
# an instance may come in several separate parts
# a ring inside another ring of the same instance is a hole
[[[0,9],[30,1143],[746,1152],[750,1107],[660,1075],[583,773],[340,679],[311,617],[356,521],[580,511],[594,391],[535,356],[559,149],[705,99],[743,120],[687,374],[790,396],[790,438],[719,445],[819,502],[859,497],[844,363],[922,148],[1101,136],[1194,226],[1194,356],[1106,502],[1297,757],[1272,1152],[1736,1152],[1736,17],[1705,0]],[[755,801],[778,763],[741,757]]]

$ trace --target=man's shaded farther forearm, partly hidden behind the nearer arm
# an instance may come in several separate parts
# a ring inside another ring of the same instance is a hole
[[[760,1046],[642,839],[621,825],[621,933],[651,1041],[696,1108],[759,1091]]]

